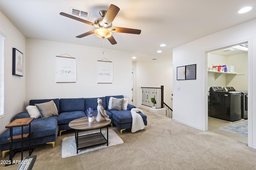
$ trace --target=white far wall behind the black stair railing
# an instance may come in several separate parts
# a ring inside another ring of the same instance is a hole
[[[132,63],[134,72],[136,74],[136,82],[134,96],[136,106],[140,106],[142,102],[141,87],[157,87],[164,86],[164,102],[172,108],[172,56],[170,54],[169,61],[137,61]]]

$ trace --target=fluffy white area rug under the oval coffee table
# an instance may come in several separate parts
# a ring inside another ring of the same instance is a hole
[[[95,133],[95,132],[92,132]],[[85,133],[87,134],[91,134],[91,133]],[[85,135],[83,134],[83,135]],[[107,133],[105,133],[105,137],[106,137]],[[90,147],[90,148],[86,148],[86,149],[80,149],[78,150],[78,154],[83,154],[86,152],[90,152],[93,150],[97,150],[97,149],[103,149],[106,147],[111,147],[114,145],[119,145],[124,143],[124,141],[112,130],[112,129],[108,129],[108,146],[107,144],[104,145],[98,145],[95,147]],[[76,141],[75,141],[75,136],[70,136],[70,137],[65,137],[62,139],[62,148],[61,148],[61,157],[62,158],[68,158],[70,156],[76,156],[78,155],[76,154]]]

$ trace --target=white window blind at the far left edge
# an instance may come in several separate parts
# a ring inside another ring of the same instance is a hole
[[[0,34],[0,118],[4,116],[4,37]]]

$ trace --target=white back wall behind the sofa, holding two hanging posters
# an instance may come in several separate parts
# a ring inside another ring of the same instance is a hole
[[[131,55],[124,51],[68,43],[26,39],[26,104],[31,99],[91,98],[124,95],[131,103]],[[76,58],[76,83],[55,83],[55,56]],[[96,63],[113,62],[113,83],[96,83]],[[106,61],[106,60],[104,60]]]

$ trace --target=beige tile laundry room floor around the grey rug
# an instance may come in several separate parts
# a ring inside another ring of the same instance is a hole
[[[226,137],[230,137],[234,140],[248,144],[248,137],[219,129],[220,127],[224,127],[224,126],[228,126],[228,125],[232,125],[232,124],[234,124],[234,123],[228,123],[225,121],[212,119],[212,118],[208,117],[208,131],[218,133],[220,135],[224,135]]]

